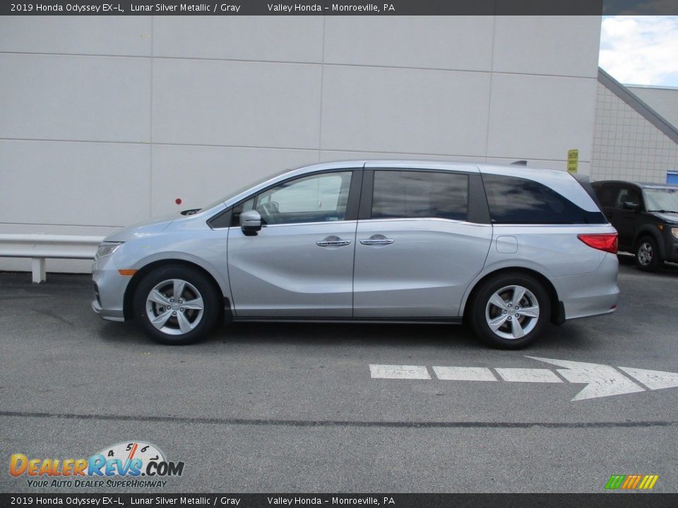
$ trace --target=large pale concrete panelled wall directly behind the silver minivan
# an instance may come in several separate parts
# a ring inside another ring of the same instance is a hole
[[[564,169],[578,148],[587,173],[599,36],[596,16],[0,18],[0,232],[104,235],[331,159]]]

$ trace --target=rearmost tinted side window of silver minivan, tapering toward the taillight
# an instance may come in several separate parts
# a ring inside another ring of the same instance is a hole
[[[483,175],[489,213],[495,224],[605,224],[601,212],[587,212],[532,180]]]

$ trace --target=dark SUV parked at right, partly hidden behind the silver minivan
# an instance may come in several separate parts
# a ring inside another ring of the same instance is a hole
[[[634,253],[636,266],[653,272],[678,262],[678,187],[662,183],[593,183],[605,217],[619,232],[619,250]]]

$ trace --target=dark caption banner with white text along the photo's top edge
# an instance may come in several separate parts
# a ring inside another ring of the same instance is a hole
[[[26,0],[18,16],[600,16],[678,14],[678,0]]]

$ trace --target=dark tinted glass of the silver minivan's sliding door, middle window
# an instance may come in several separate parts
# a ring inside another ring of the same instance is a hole
[[[372,219],[465,220],[468,176],[443,171],[374,171]]]

